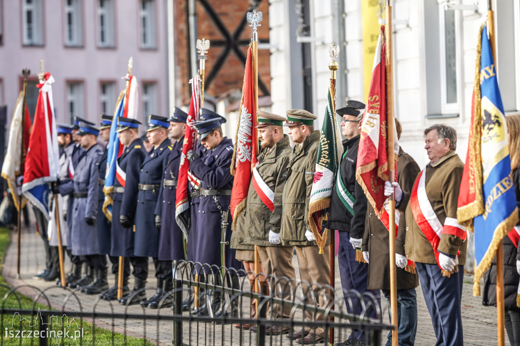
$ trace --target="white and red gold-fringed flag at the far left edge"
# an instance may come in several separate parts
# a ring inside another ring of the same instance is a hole
[[[24,122],[22,129],[23,118]],[[23,91],[20,91],[20,95],[16,101],[15,111],[12,113],[11,127],[9,128],[9,141],[7,142],[7,151],[2,166],[2,178],[7,180],[7,185],[11,190],[12,201],[15,203],[16,210],[20,210],[20,206],[18,205],[19,200],[17,196],[16,179],[23,176],[25,156],[27,156],[27,149],[29,147],[30,130],[31,117],[29,115],[29,109],[26,104],[25,113],[23,112]],[[21,202],[21,208],[23,208],[27,203],[27,198],[23,195]]]

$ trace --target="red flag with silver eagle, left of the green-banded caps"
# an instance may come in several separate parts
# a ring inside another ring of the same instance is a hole
[[[236,229],[236,220],[247,203],[252,167],[256,164],[258,154],[258,136],[256,132],[256,105],[253,71],[253,56],[251,45],[248,48],[248,58],[245,62],[242,100],[238,116],[235,150],[231,159],[231,174],[235,176],[231,190],[232,229]]]

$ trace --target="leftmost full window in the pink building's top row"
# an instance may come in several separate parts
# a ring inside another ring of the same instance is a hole
[[[43,45],[42,0],[23,0],[22,30],[25,46]]]

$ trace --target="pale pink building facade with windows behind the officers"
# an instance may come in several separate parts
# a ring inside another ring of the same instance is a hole
[[[166,2],[163,0],[0,0],[0,104],[7,124],[31,70],[28,106],[37,99],[40,59],[55,78],[58,122],[99,123],[113,114],[128,59],[139,83],[139,119],[168,115]]]

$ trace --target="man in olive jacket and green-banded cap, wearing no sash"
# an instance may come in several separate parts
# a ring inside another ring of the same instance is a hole
[[[282,220],[280,240],[282,243],[294,245],[300,267],[300,279],[309,285],[317,283],[320,286],[329,284],[330,275],[330,245],[326,245],[323,254],[319,255],[316,239],[310,231],[309,198],[313,186],[316,158],[318,157],[318,141],[320,131],[314,131],[313,122],[316,115],[305,110],[288,110],[287,122],[289,136],[294,142],[292,157],[287,166],[287,179],[283,187]],[[326,304],[320,289],[302,286],[304,295],[313,293],[321,308]],[[313,292],[308,292],[312,289]],[[318,298],[319,297],[319,298]],[[309,298],[307,303],[311,303]],[[305,320],[312,321],[313,313],[306,310]],[[314,316],[316,321],[323,320],[323,314]],[[322,327],[305,327],[301,331],[289,334],[289,338],[296,339],[297,343],[309,344],[321,342],[325,337]]]

